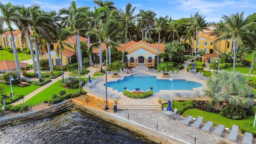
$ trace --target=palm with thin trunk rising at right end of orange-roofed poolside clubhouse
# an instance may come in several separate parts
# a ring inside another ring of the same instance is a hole
[[[167,22],[168,16],[162,17],[160,16],[159,18],[155,18],[154,21],[154,26],[155,28],[152,30],[155,30],[158,33],[158,45],[157,45],[157,64],[156,67],[158,68],[158,63],[159,63],[159,45],[160,45],[160,35],[161,32],[164,28],[166,28],[166,22]],[[149,31],[152,31],[149,30]]]

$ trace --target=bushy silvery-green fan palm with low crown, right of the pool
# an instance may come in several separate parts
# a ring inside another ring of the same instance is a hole
[[[230,104],[241,108],[250,108],[254,105],[250,86],[244,85],[244,75],[239,72],[227,72],[221,70],[219,75],[212,74],[213,79],[206,81],[207,90],[204,91],[204,96],[210,98],[210,104],[219,104],[219,100],[223,100],[222,107]]]

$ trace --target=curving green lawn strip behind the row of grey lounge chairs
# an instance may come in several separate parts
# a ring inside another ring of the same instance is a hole
[[[212,112],[205,112],[202,110],[197,110],[197,109],[188,109],[183,113],[183,116],[194,116],[197,118],[198,116],[204,117],[203,121],[212,121],[214,125],[216,126],[217,124],[223,124],[225,127],[232,128],[232,124],[240,126],[242,122],[245,121],[254,121],[254,116],[255,116],[255,111],[256,111],[256,106],[252,107],[252,113],[253,116],[248,116],[246,119],[243,120],[230,120],[228,118],[224,118],[223,116],[220,116],[219,114],[212,113]]]

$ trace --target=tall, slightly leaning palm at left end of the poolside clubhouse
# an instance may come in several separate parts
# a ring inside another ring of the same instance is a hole
[[[129,2],[126,4],[125,7],[125,12],[123,12],[122,9],[120,9],[118,12],[120,14],[120,20],[124,23],[124,28],[125,28],[125,40],[124,40],[124,48],[123,48],[123,56],[122,56],[122,68],[124,67],[124,49],[126,46],[126,40],[127,40],[127,33],[128,33],[128,27],[129,27],[129,22],[136,18],[136,16],[133,15],[136,7],[132,8],[132,4]]]

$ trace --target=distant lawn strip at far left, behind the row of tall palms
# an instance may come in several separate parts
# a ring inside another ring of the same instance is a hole
[[[5,50],[0,50],[0,60],[11,60],[11,61],[14,61],[14,54],[13,53],[10,53],[8,51],[5,51]],[[31,54],[23,54],[23,53],[18,53],[18,59],[19,61],[22,61],[22,60],[28,60],[32,58],[31,57]]]

